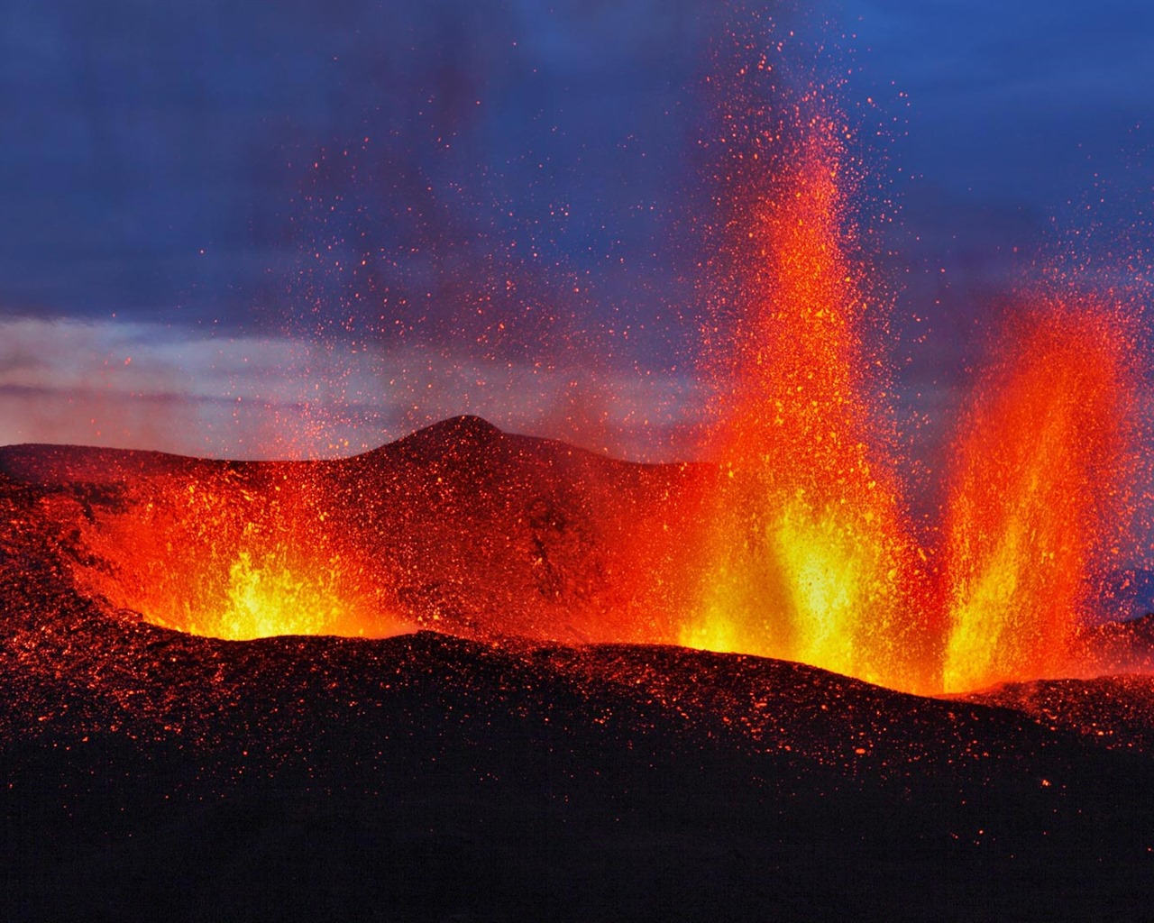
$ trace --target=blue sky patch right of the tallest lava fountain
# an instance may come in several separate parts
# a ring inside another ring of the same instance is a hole
[[[1082,250],[1074,262],[1141,250],[1148,265],[1154,6],[842,9],[857,18],[862,84],[908,93],[890,166],[916,178],[896,180],[906,230],[921,238],[905,254],[911,267],[941,264],[952,286],[981,292],[1072,246]]]

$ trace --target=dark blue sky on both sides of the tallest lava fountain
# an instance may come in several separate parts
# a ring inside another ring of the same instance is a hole
[[[129,345],[283,336],[323,344],[330,377],[349,344],[684,374],[704,310],[702,88],[732,15],[659,0],[9,0],[0,317],[115,315],[137,324]],[[1092,249],[1148,263],[1154,5],[855,0],[780,18],[825,30],[847,111],[872,98],[868,119],[886,126],[868,158],[904,219],[875,265],[899,286],[911,392],[950,391],[975,322],[1037,253],[1093,230]],[[31,399],[60,372],[52,342],[22,330],[0,347],[0,389]],[[129,358],[92,336],[103,367]],[[153,355],[126,392],[249,397],[224,360],[212,378],[201,353],[165,355],[173,368]],[[68,387],[111,387],[98,372]],[[376,377],[338,390],[365,406],[394,381]],[[421,413],[455,406],[442,395]],[[675,429],[679,406],[654,420]],[[5,407],[22,412],[35,413]],[[398,435],[421,413],[377,423]]]

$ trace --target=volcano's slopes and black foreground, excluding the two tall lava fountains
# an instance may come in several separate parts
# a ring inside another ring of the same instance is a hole
[[[673,598],[630,580],[702,476],[475,418],[336,462],[0,450],[5,918],[1148,915],[1154,680],[652,643]]]

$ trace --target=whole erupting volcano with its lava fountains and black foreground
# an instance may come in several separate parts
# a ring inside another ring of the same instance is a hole
[[[1021,292],[915,516],[854,134],[784,99],[727,137],[699,460],[0,449],[6,918],[1145,908],[1140,318]]]

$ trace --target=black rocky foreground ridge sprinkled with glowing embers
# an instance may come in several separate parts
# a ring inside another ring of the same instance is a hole
[[[938,699],[532,633],[195,637],[77,584],[100,562],[53,510],[111,509],[92,487],[107,458],[84,476],[14,458],[5,920],[1149,916],[1147,676]],[[524,525],[552,530],[554,562],[577,534],[556,523]],[[537,579],[518,566],[510,580]],[[580,592],[554,588],[520,609],[525,626]]]

